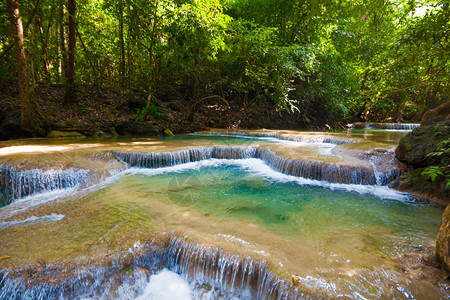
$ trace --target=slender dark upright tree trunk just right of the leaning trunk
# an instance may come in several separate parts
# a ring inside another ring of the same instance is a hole
[[[69,0],[68,6],[69,13],[69,49],[66,71],[66,103],[73,103],[75,101],[75,0]]]

